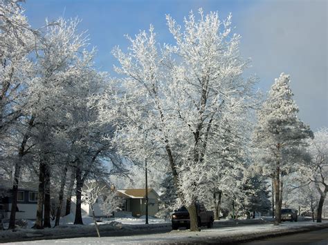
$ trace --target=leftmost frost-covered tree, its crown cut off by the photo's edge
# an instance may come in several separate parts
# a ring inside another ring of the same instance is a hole
[[[37,39],[38,33],[30,28],[19,1],[0,1],[0,166],[6,177],[13,179],[10,228],[15,228],[21,162],[30,148],[33,119],[24,117],[21,110],[28,97],[26,83],[34,75],[28,55],[35,50]]]

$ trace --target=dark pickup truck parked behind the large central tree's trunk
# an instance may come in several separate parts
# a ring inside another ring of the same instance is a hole
[[[197,204],[197,218],[199,226],[208,226],[212,228],[214,222],[213,211],[207,211],[203,204]],[[182,206],[172,214],[172,230],[179,227],[190,228],[190,217],[187,208]]]

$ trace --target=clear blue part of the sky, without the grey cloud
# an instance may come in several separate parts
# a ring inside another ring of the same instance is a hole
[[[96,63],[100,69],[111,71],[115,60],[111,56],[114,46],[125,48],[128,44],[124,35],[135,35],[139,30],[154,25],[158,41],[171,42],[167,30],[165,14],[182,21],[190,10],[197,12],[217,11],[222,17],[229,12],[237,13],[250,8],[255,1],[174,1],[174,0],[27,0],[24,5],[26,15],[34,27],[44,25],[48,17],[53,21],[58,17],[78,17],[82,19],[81,30],[88,30],[92,46],[98,49]],[[242,19],[239,19],[242,21]],[[237,17],[234,23],[239,22]],[[237,26],[237,25],[236,25]]]

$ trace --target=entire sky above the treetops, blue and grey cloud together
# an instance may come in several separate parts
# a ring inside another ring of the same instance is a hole
[[[154,25],[158,41],[172,43],[165,14],[182,23],[190,10],[233,13],[235,32],[242,35],[243,57],[251,57],[247,74],[259,77],[266,91],[281,72],[291,75],[300,118],[313,130],[328,126],[327,1],[325,0],[26,0],[26,16],[38,28],[58,17],[82,19],[98,55],[95,65],[113,73],[114,46],[127,47],[124,35]]]

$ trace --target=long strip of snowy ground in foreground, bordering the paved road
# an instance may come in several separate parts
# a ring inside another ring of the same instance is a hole
[[[127,235],[119,237],[78,237],[71,239],[39,240],[32,242],[16,242],[15,244],[173,244],[176,242],[241,242],[245,239],[264,237],[268,234],[283,234],[291,231],[307,231],[313,226],[328,227],[328,222],[284,222],[280,226],[273,224],[255,224],[248,226],[204,228],[200,232],[170,231],[161,234]]]

